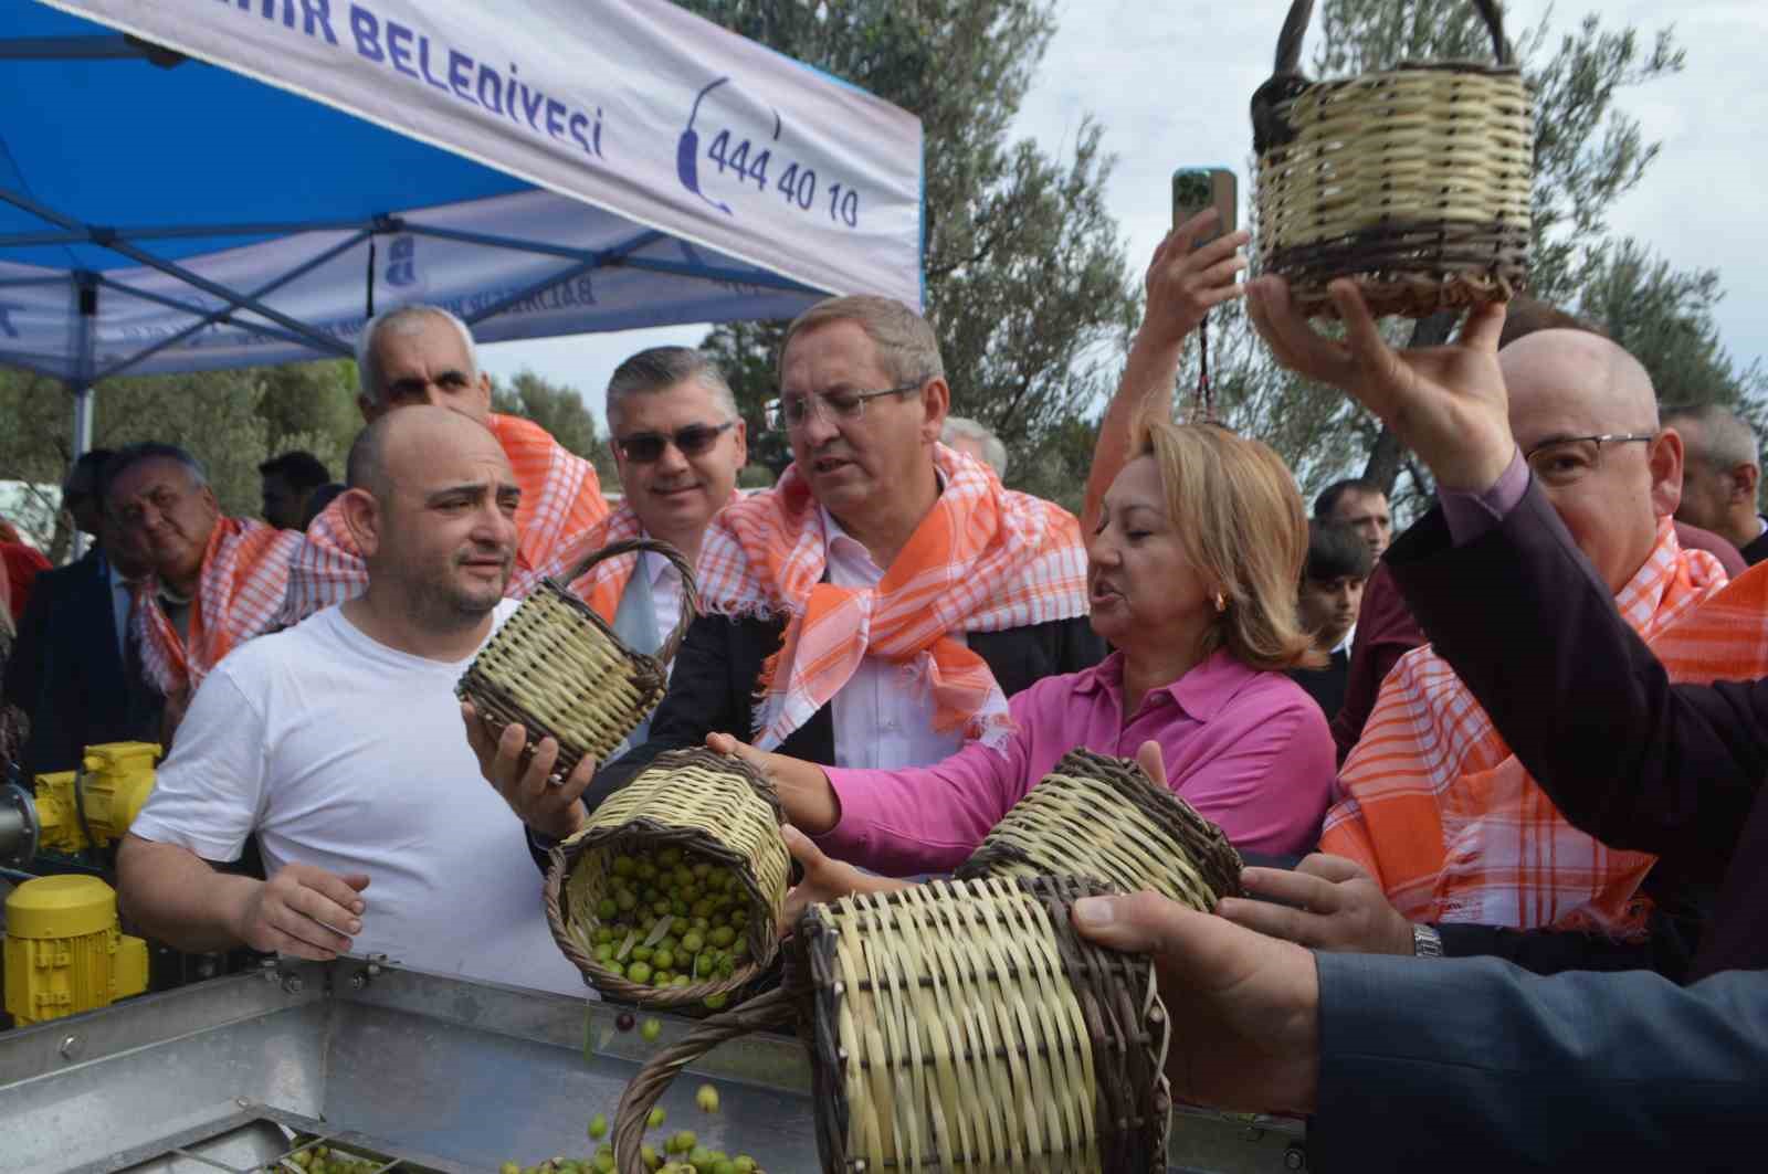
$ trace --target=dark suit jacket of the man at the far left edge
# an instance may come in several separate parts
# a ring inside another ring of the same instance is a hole
[[[161,698],[124,668],[97,553],[37,576],[7,665],[5,698],[30,716],[27,780],[78,767],[87,746],[159,739]]]

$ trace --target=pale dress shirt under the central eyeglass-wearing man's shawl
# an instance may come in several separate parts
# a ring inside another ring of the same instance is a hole
[[[877,587],[884,568],[872,552],[842,529],[827,509],[822,523],[829,534],[829,582],[836,587]],[[965,644],[962,631],[948,633]],[[831,702],[834,720],[834,766],[900,771],[932,766],[964,746],[964,730],[934,730],[934,695],[916,684],[903,665],[866,656]]]

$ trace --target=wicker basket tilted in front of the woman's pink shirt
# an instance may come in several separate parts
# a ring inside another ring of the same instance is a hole
[[[1038,877],[1073,872],[1124,893],[1155,889],[1209,912],[1239,893],[1241,859],[1222,829],[1156,787],[1128,759],[1063,755],[956,875]]]

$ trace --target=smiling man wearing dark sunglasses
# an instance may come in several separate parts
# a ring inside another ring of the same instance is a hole
[[[560,546],[541,575],[564,580],[594,552],[635,537],[670,543],[697,566],[705,527],[748,463],[748,430],[730,384],[693,347],[652,347],[613,370],[606,415],[626,500]],[[571,591],[638,652],[656,652],[681,617],[681,573],[649,550],[598,562],[571,580]],[[463,716],[476,750],[490,755],[495,748],[470,704]],[[647,718],[626,746],[642,744],[649,730]]]

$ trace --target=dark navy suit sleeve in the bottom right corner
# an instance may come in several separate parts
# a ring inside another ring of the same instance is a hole
[[[1315,955],[1310,1170],[1759,1170],[1768,974]]]

